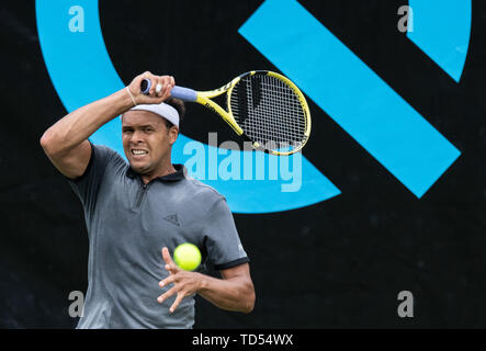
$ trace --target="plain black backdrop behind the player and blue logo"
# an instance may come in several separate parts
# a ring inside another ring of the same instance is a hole
[[[276,70],[237,33],[260,3],[104,0],[100,16],[125,83],[148,69],[210,89],[250,69]],[[418,200],[309,101],[313,136],[304,155],[342,194],[296,211],[236,214],[255,312],[226,313],[197,298],[195,327],[485,327],[484,1],[473,1],[459,84],[397,31],[406,1],[301,3],[462,155]],[[88,238],[81,204],[38,144],[66,110],[42,58],[34,1],[2,3],[0,37],[0,327],[71,328],[68,294],[87,288]],[[205,141],[202,114],[189,106],[183,133]],[[219,140],[231,138],[212,121]],[[404,290],[414,293],[414,318],[397,316]]]

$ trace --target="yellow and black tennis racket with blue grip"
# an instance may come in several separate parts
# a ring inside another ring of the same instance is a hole
[[[144,79],[142,92],[147,94],[150,86],[150,80]],[[224,93],[227,110],[211,100]],[[210,91],[176,86],[171,95],[217,113],[253,148],[272,155],[299,151],[310,135],[310,112],[304,94],[289,78],[272,71],[249,71]]]

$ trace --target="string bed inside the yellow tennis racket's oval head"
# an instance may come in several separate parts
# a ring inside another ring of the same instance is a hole
[[[298,147],[306,115],[297,95],[282,80],[267,75],[242,78],[231,91],[231,112],[245,134],[269,150]]]

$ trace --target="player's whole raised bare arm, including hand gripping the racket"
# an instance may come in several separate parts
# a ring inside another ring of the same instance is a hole
[[[140,82],[145,78],[151,80],[148,95],[140,92]],[[155,91],[157,83],[163,87],[159,93]],[[88,137],[105,123],[133,107],[134,103],[152,104],[165,101],[170,97],[173,86],[172,77],[142,73],[135,77],[127,88],[84,105],[57,121],[42,136],[41,146],[63,174],[72,179],[80,177],[91,157]]]

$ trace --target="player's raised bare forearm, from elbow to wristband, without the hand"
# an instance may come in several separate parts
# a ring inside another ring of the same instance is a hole
[[[69,151],[132,106],[128,92],[122,89],[64,116],[44,133],[44,145],[52,154]]]

